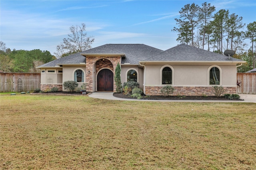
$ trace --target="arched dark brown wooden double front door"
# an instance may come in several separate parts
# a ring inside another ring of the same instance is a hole
[[[108,69],[102,69],[97,76],[98,91],[113,91],[114,77],[113,72]]]

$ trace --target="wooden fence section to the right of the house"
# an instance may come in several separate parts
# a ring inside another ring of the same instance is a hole
[[[256,72],[237,73],[237,80],[241,82],[238,94],[256,94]]]

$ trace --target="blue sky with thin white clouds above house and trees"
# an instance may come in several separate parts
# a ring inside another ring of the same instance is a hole
[[[256,21],[256,0],[0,0],[0,41],[54,55],[70,26],[85,23],[92,47],[138,43],[166,50],[179,44],[171,30],[181,8],[204,2],[216,7],[214,14],[225,9],[246,25]]]

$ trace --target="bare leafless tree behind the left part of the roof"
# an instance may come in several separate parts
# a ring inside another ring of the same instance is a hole
[[[63,42],[56,47],[56,53],[54,53],[57,58],[64,57],[70,54],[78,53],[91,49],[91,44],[94,42],[92,36],[87,36],[86,25],[82,23],[81,26],[71,26],[71,34],[68,34],[68,38],[64,38]]]

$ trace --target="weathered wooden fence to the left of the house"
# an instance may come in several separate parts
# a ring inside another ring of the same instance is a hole
[[[0,92],[31,92],[40,88],[40,73],[0,73]]]

